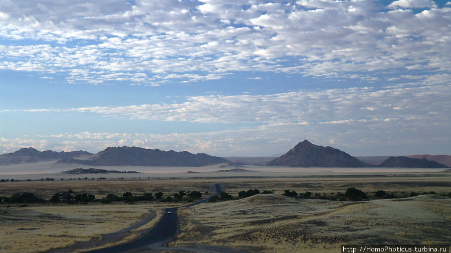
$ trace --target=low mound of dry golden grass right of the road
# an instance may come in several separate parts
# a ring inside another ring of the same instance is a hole
[[[421,195],[405,200],[340,202],[259,194],[202,204],[179,212],[182,232],[171,245],[197,241],[256,251],[337,252],[340,244],[448,244],[451,199]]]

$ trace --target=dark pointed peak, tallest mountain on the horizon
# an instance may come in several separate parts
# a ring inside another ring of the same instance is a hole
[[[373,167],[339,149],[318,146],[308,140],[299,142],[282,156],[266,163],[267,166],[290,167]]]

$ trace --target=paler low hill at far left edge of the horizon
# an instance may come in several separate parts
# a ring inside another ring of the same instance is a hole
[[[38,162],[46,160],[68,159],[80,155],[91,155],[87,151],[56,152],[52,150],[39,151],[33,147],[21,148],[14,153],[0,155],[0,165],[16,164],[23,162]]]

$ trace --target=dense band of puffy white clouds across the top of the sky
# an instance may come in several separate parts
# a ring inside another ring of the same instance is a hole
[[[165,83],[173,74],[180,76],[175,82],[192,82],[208,80],[206,73],[235,71],[333,78],[369,78],[381,72],[394,78],[392,69],[412,67],[447,72],[449,9],[430,0],[399,0],[389,6],[433,8],[383,12],[374,1],[320,0],[138,0],[134,5],[119,0],[4,1],[0,37],[18,45],[0,45],[0,68],[87,69],[83,76],[68,76],[68,82],[93,84],[129,72],[120,80],[142,85]],[[38,45],[22,44],[25,39]],[[273,60],[282,57],[297,60]],[[133,72],[157,77],[135,79]],[[193,73],[199,78],[190,78]]]

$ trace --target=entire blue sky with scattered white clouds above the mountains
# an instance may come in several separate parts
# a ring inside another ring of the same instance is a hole
[[[0,153],[451,154],[451,1],[0,0]]]

